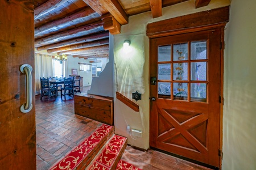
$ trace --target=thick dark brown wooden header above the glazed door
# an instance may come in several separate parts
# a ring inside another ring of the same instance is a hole
[[[155,38],[225,27],[229,22],[229,8],[225,6],[147,24],[147,36]]]

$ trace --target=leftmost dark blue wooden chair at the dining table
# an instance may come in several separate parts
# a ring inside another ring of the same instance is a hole
[[[40,100],[42,100],[43,96],[48,96],[48,100],[51,97],[54,97],[56,99],[56,94],[57,94],[57,88],[54,86],[50,86],[49,84],[49,78],[40,78],[41,82],[41,95],[40,95]]]

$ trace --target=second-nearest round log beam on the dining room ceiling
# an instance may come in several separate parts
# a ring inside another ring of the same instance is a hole
[[[72,22],[75,22],[76,20],[80,20],[82,18],[88,17],[90,15],[96,14],[96,12],[90,8],[90,7],[86,7],[83,10],[76,12],[75,14],[66,16],[65,18],[59,19],[59,20],[55,20],[51,23],[47,23],[47,24],[43,24],[42,26],[35,28],[35,35],[48,31],[49,29],[59,29],[58,27],[60,27],[60,25],[67,25],[67,24],[71,24]]]

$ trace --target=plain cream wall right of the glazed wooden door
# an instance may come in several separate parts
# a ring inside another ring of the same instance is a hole
[[[256,169],[256,1],[233,0],[225,31],[222,169]]]

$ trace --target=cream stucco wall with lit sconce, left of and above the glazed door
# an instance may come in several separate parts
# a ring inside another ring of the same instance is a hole
[[[147,24],[228,5],[230,5],[229,0],[212,0],[207,7],[196,9],[195,1],[186,1],[163,8],[163,16],[159,18],[152,19],[151,12],[130,16],[129,24],[122,25],[121,34],[114,35],[114,95],[115,91],[118,91],[139,105],[139,112],[135,112],[114,97],[115,133],[127,137],[130,145],[144,149],[149,147],[150,101]],[[129,52],[123,50],[124,40],[131,41]],[[142,100],[135,101],[132,99],[132,93],[136,91],[142,94]],[[127,133],[127,125],[131,129],[141,130],[142,138]]]

